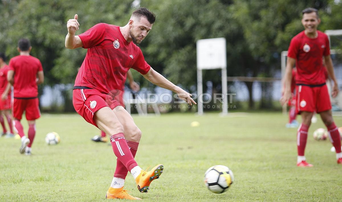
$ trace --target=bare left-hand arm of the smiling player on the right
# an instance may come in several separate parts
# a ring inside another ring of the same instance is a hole
[[[291,57],[287,57],[286,70],[284,75],[284,94],[280,98],[281,105],[286,104],[292,97],[291,93],[291,79],[292,79],[292,68],[296,60]]]

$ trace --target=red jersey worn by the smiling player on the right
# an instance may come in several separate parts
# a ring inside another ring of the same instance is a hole
[[[292,38],[288,57],[296,59],[297,84],[319,85],[325,83],[323,56],[330,55],[328,36],[317,31],[318,36],[308,38],[304,31]]]

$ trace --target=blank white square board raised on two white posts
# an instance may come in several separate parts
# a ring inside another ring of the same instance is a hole
[[[227,67],[226,39],[201,39],[197,46],[197,69],[223,69]]]

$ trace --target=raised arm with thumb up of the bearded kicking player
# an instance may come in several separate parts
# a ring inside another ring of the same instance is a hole
[[[69,19],[67,22],[68,34],[65,37],[65,47],[75,49],[83,46],[79,36],[75,36],[76,31],[79,29],[80,24],[77,21],[78,15],[74,19]]]

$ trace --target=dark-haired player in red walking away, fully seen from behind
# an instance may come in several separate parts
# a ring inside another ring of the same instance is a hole
[[[44,82],[42,64],[38,58],[30,56],[31,43],[28,39],[18,42],[19,55],[10,60],[10,70],[7,73],[8,81],[14,87],[13,125],[21,137],[21,154],[31,155],[31,146],[36,135],[36,119],[40,117],[38,84]],[[25,111],[28,122],[27,136],[24,134],[20,122]]]

